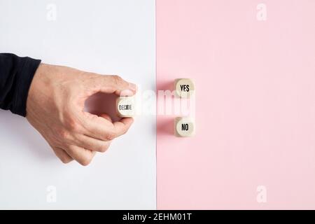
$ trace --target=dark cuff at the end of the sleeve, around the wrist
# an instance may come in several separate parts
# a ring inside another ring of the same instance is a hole
[[[24,59],[24,64],[20,67],[21,70],[17,73],[17,90],[11,109],[12,113],[16,113],[23,117],[26,116],[27,96],[29,94],[31,80],[33,80],[39,64],[41,64],[40,59],[32,59],[30,57],[25,57]]]

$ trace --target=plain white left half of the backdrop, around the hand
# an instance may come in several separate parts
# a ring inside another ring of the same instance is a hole
[[[56,20],[47,19],[49,3]],[[0,0],[0,52],[155,90],[155,1]],[[81,167],[63,165],[25,118],[0,110],[0,209],[155,209],[155,177],[155,116],[137,117]],[[48,186],[55,203],[46,201]]]

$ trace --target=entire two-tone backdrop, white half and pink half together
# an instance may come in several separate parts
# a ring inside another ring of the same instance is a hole
[[[80,167],[0,111],[1,209],[315,209],[315,1],[0,0],[0,51],[142,90],[192,78],[197,127],[138,116]]]

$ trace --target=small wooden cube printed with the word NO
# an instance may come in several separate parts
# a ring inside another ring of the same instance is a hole
[[[174,133],[177,137],[192,137],[195,134],[195,121],[191,118],[175,118]]]

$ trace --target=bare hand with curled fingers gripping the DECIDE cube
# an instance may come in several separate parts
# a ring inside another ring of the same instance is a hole
[[[133,119],[112,122],[106,114],[87,113],[85,99],[97,92],[119,96],[136,91],[136,85],[119,76],[41,64],[29,88],[27,120],[62,162],[76,160],[86,166],[96,152],[105,152],[113,139],[125,134]]]

